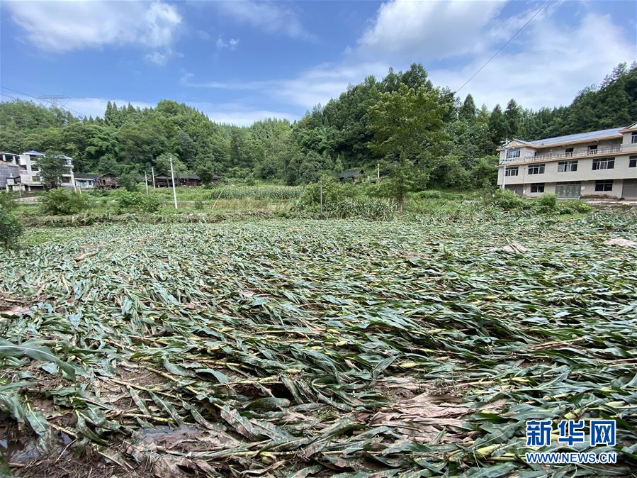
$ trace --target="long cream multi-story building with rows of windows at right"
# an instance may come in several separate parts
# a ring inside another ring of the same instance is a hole
[[[497,184],[519,196],[637,199],[637,123],[502,147]]]

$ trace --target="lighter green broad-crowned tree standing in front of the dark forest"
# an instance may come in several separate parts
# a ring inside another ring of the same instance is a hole
[[[401,84],[398,91],[380,94],[369,109],[370,148],[388,162],[394,197],[401,208],[408,191],[427,183],[446,139],[439,99],[436,89]]]

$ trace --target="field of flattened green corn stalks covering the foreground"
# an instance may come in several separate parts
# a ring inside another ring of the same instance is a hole
[[[634,476],[617,237],[634,213],[111,225],[0,252],[5,472]],[[527,419],[553,449],[560,418],[598,417],[617,465],[523,461]]]

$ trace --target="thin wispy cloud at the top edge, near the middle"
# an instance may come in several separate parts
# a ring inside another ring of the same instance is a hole
[[[213,5],[220,13],[266,33],[279,33],[291,38],[315,40],[305,30],[298,14],[283,3],[269,1],[217,1]]]

